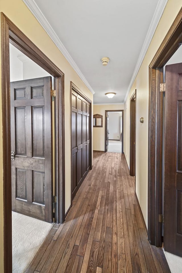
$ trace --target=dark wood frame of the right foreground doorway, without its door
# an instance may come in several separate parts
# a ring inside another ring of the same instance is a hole
[[[182,9],[149,65],[149,142],[148,142],[148,240],[162,246],[162,112],[163,67],[182,42]]]

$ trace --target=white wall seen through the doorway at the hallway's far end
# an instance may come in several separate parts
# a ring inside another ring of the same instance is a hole
[[[108,112],[109,116],[109,139],[120,140],[120,117],[121,113]]]

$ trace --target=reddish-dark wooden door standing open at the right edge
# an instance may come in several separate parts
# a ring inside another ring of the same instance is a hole
[[[164,249],[182,257],[182,63],[166,66]]]

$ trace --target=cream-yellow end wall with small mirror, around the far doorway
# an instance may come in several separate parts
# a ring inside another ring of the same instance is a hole
[[[105,110],[123,110],[124,104],[94,105],[93,115],[103,115],[103,127],[93,128],[93,150],[104,151],[105,149]],[[125,141],[125,140],[124,140]]]

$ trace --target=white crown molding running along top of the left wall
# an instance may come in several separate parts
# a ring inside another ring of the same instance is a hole
[[[28,7],[28,9],[31,11],[31,13],[35,16],[35,18],[38,20],[40,25],[44,28],[44,30],[47,32],[51,40],[54,42],[54,44],[57,46],[57,48],[61,51],[63,56],[67,59],[67,61],[70,63],[70,65],[73,67],[75,72],[78,74],[78,76],[81,78],[81,80],[84,82],[84,84],[88,87],[90,92],[94,94],[94,90],[76,65],[76,63],[73,61],[72,57],[68,53],[67,49],[64,47],[60,39],[58,38],[57,34],[47,21],[46,17],[42,13],[42,11],[39,9],[38,5],[35,3],[34,0],[23,0],[25,5]]]

